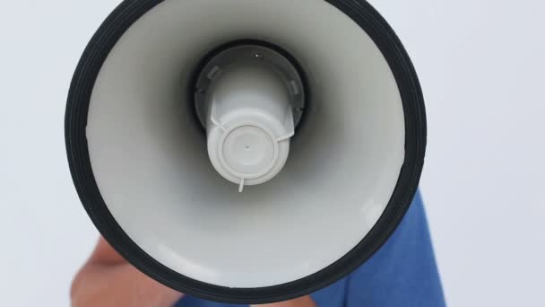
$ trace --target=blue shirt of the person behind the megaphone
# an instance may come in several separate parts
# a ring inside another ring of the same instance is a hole
[[[445,307],[420,194],[389,241],[350,276],[311,295],[318,307]],[[240,306],[186,296],[177,307]]]

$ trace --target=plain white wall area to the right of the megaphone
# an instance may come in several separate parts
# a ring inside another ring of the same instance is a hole
[[[374,1],[420,74],[449,305],[545,306],[545,4]]]

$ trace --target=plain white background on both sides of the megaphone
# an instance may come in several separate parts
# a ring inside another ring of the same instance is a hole
[[[65,159],[65,97],[82,49],[117,3],[1,5],[1,306],[67,306],[98,236]],[[426,95],[422,189],[449,305],[545,305],[545,4],[372,3]]]

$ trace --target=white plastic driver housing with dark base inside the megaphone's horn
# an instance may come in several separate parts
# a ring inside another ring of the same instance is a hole
[[[288,160],[304,99],[296,68],[270,48],[242,45],[213,57],[197,79],[195,108],[215,170],[240,192],[272,180]]]

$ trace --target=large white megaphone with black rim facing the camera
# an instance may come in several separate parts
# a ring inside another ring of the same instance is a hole
[[[84,208],[134,267],[271,303],[385,243],[418,187],[426,116],[363,0],[126,0],[76,68],[65,140]]]

